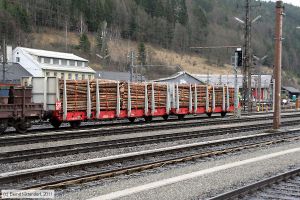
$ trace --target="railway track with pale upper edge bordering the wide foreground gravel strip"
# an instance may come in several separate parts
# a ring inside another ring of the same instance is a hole
[[[178,145],[0,174],[0,188],[42,189],[300,139],[300,129]]]

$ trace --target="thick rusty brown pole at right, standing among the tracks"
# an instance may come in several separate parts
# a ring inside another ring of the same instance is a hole
[[[282,63],[282,18],[283,18],[283,2],[276,1],[276,24],[275,24],[275,105],[273,129],[280,128],[281,113],[281,63]]]

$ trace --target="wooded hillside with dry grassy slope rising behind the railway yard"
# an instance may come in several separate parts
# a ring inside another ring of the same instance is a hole
[[[13,45],[68,51],[91,60],[96,69],[128,68],[130,50],[145,44],[146,64],[181,65],[191,73],[231,73],[231,49],[191,51],[191,46],[242,45],[244,1],[238,0],[0,0],[0,33]],[[258,4],[252,0],[251,4]],[[273,65],[274,7],[261,2],[252,18],[253,54]],[[286,5],[283,68],[300,74],[300,8]],[[65,30],[67,30],[67,40]],[[87,35],[88,37],[79,37]],[[67,47],[66,47],[67,41]],[[96,54],[109,55],[100,60]],[[141,56],[140,56],[141,57]],[[140,57],[137,62],[140,63]],[[143,62],[144,62],[143,61]],[[99,64],[100,63],[100,64]],[[149,78],[176,67],[144,68]],[[269,70],[270,71],[270,70]],[[286,80],[286,84],[297,81]]]

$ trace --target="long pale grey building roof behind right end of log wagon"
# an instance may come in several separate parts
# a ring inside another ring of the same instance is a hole
[[[234,75],[215,75],[215,74],[194,74],[201,81],[214,85],[227,84],[230,87],[234,87]],[[258,87],[259,82],[258,75],[252,75],[251,85],[253,88]],[[261,88],[269,88],[272,80],[272,75],[261,75]],[[239,88],[243,87],[243,76],[237,76],[237,84]]]

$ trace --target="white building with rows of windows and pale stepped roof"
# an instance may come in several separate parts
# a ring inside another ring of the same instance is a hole
[[[16,47],[13,62],[20,64],[33,77],[83,80],[93,79],[96,73],[88,66],[88,60],[71,53]]]

